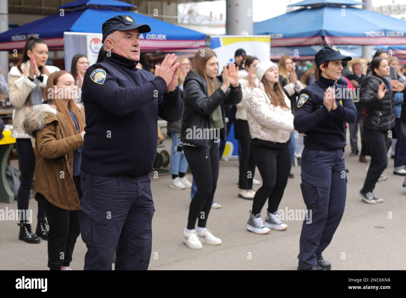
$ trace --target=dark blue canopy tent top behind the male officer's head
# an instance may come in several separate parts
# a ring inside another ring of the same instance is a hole
[[[63,32],[102,33],[103,22],[121,14],[151,27],[151,32],[140,34],[143,50],[197,49],[206,44],[205,34],[123,10],[134,5],[121,1],[79,0],[58,8],[63,9],[63,13],[0,34],[0,51],[23,49],[30,35],[44,39],[50,49],[63,49]]]

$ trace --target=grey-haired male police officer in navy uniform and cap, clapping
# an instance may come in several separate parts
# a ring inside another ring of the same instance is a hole
[[[86,71],[82,100],[86,113],[80,178],[80,232],[86,243],[85,270],[146,270],[151,257],[155,211],[151,181],[158,116],[179,120],[179,62],[167,55],[155,75],[136,68],[139,33],[151,31],[130,16],[104,22],[107,57]]]

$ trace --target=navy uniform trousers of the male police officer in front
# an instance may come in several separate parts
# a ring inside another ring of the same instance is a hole
[[[80,234],[84,270],[147,270],[152,249],[154,204],[148,174],[103,177],[80,172]]]

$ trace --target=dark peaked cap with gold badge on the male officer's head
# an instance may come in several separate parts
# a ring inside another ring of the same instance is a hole
[[[138,32],[140,33],[147,33],[151,31],[151,28],[147,24],[137,24],[129,15],[116,15],[103,23],[102,42],[104,42],[107,36],[115,31],[131,30],[135,28],[138,28]]]

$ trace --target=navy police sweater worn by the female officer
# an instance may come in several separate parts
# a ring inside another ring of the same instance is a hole
[[[336,88],[337,109],[324,106],[324,92]],[[354,123],[357,112],[352,92],[347,86],[334,83],[320,75],[313,84],[300,91],[294,118],[295,129],[304,133],[304,146],[311,150],[335,150],[346,146],[345,122]]]

